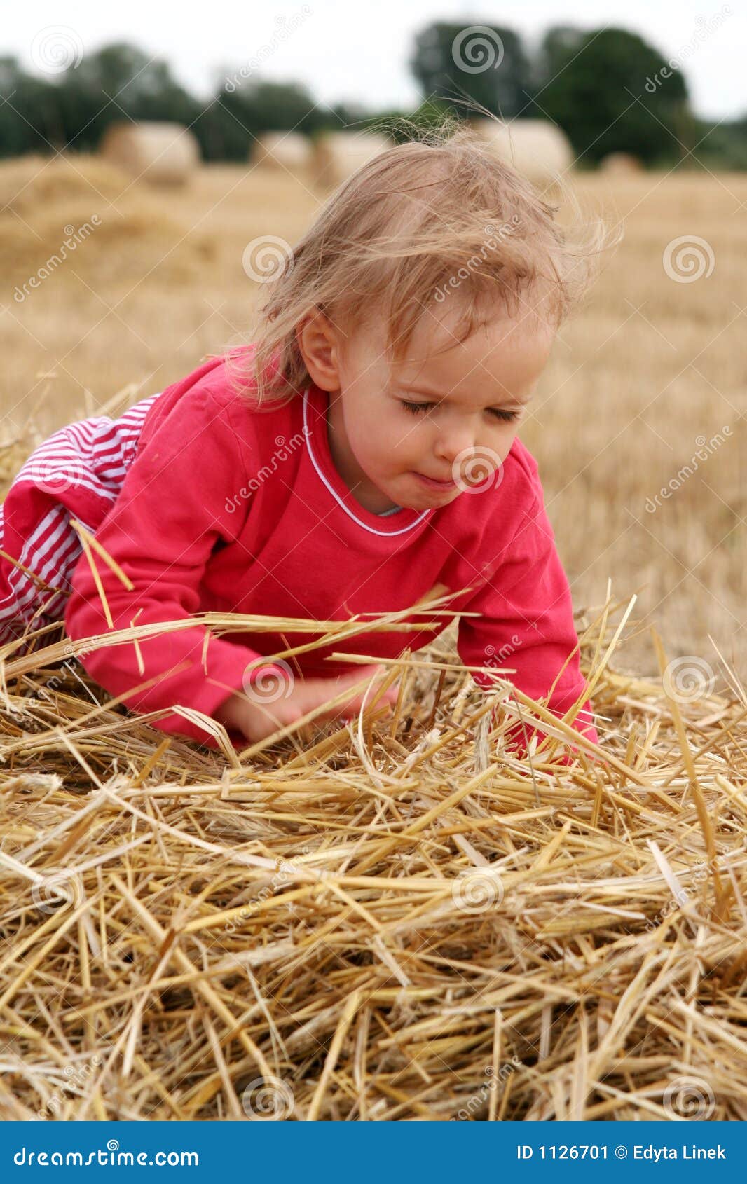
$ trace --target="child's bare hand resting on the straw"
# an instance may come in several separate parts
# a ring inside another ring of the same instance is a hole
[[[352,674],[340,675],[337,678],[307,678],[297,682],[290,694],[272,702],[263,703],[260,695],[252,699],[250,695],[236,691],[220,704],[220,708],[215,713],[215,719],[220,723],[225,723],[227,727],[240,732],[250,744],[256,744],[279,728],[289,723],[295,723],[308,712],[321,707],[322,703],[334,699],[348,687],[355,686],[361,678],[366,676],[371,677],[375,671],[381,671],[382,675],[386,674],[384,667],[368,665],[358,667]],[[378,678],[373,688],[368,691],[368,706],[373,702],[376,687],[380,682],[381,678]],[[395,703],[398,693],[399,683],[397,682],[384,693],[376,706],[381,703]],[[321,715],[317,715],[314,722],[336,719],[337,716],[349,719],[350,715],[361,709],[363,694],[365,691],[342,700],[336,707],[330,707],[326,712],[322,712]]]

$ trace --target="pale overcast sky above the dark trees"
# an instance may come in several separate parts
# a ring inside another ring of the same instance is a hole
[[[51,30],[62,26],[63,39],[72,40],[83,53],[115,39],[134,41],[166,58],[182,85],[207,97],[217,77],[242,66],[246,70],[262,51],[263,66],[256,76],[303,82],[326,102],[407,108],[418,98],[407,67],[413,36],[432,20],[508,25],[528,44],[550,25],[624,26],[682,64],[698,115],[722,118],[747,112],[745,0],[726,5],[721,0],[484,5],[462,0],[376,0],[369,5],[361,0],[211,0],[197,8],[173,0],[129,0],[125,5],[6,0],[0,56],[15,54],[32,72],[41,73],[34,65],[39,46]],[[284,38],[278,37],[282,31],[286,31]]]

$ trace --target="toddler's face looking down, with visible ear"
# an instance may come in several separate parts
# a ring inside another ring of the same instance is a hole
[[[522,311],[458,342],[457,314],[425,313],[407,358],[394,366],[376,327],[341,348],[341,335],[318,314],[300,335],[313,381],[330,394],[335,465],[373,513],[446,506],[500,481],[555,333]]]

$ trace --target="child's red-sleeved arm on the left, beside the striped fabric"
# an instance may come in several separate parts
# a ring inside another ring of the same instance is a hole
[[[131,463],[116,503],[96,530],[97,542],[129,578],[131,590],[92,551],[115,630],[183,620],[199,611],[210,554],[220,540],[236,539],[244,519],[245,510],[226,509],[226,500],[246,484],[240,445],[227,408],[198,385],[181,397]],[[110,630],[85,554],[73,572],[65,625],[73,639]],[[111,695],[155,678],[124,700],[134,710],[179,703],[214,716],[242,690],[246,665],[259,655],[210,633],[204,665],[206,633],[202,626],[167,631],[137,645],[124,642],[83,652],[81,661]],[[179,714],[155,726],[211,742],[207,732]]]

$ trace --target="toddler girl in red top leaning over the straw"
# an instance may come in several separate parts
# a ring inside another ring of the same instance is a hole
[[[4,506],[0,639],[63,618],[72,639],[202,611],[340,620],[437,588],[475,613],[458,651],[488,668],[481,687],[496,684],[490,668],[515,670],[503,677],[558,716],[581,704],[573,726],[597,741],[568,581],[517,436],[594,255],[553,212],[466,129],[363,165],[285,259],[256,341],[30,457]],[[103,552],[82,552],[71,519]],[[291,662],[262,658],[311,635],[201,625],[79,656],[129,708],[169,709],[163,732],[215,747],[202,713],[240,747],[360,682],[360,665],[324,661],[333,650],[395,658],[447,624],[426,619],[436,629],[413,620]],[[520,752],[530,735],[507,733]]]

